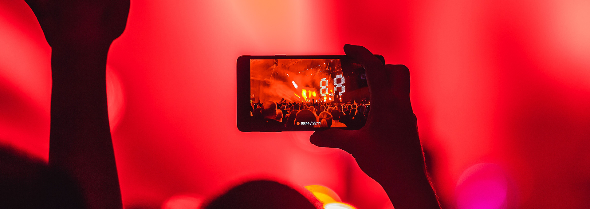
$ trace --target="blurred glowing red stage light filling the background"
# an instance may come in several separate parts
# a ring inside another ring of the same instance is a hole
[[[47,159],[50,52],[24,1],[0,2],[0,141]],[[160,207],[268,176],[388,204],[343,151],[310,133],[235,126],[239,55],[365,45],[411,69],[412,105],[441,201],[470,166],[501,166],[521,208],[587,208],[588,1],[132,1],[109,52],[123,203]]]

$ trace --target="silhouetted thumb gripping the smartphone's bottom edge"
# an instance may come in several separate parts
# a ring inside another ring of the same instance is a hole
[[[313,132],[309,142],[324,148],[338,148],[346,152],[352,151],[352,143],[356,130],[327,129]]]

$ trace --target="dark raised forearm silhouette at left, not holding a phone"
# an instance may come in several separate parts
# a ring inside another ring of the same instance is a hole
[[[68,172],[87,208],[122,208],[109,129],[106,61],[129,0],[25,0],[51,46],[49,164]]]

